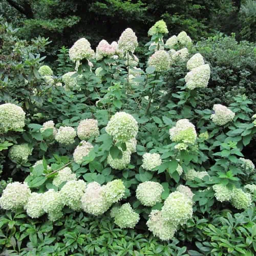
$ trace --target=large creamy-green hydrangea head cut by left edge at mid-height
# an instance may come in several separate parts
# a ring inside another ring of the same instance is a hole
[[[0,105],[0,133],[22,129],[25,126],[25,115],[20,106],[12,103]]]

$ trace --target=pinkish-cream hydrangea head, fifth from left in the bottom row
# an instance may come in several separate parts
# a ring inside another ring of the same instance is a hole
[[[87,185],[86,191],[81,198],[81,203],[85,212],[95,216],[104,214],[111,206],[104,196],[104,186],[100,186],[97,182]]]

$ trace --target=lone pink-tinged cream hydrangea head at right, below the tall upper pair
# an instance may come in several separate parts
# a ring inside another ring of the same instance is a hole
[[[235,115],[226,106],[221,104],[214,104],[213,110],[214,114],[212,114],[210,118],[212,119],[212,122],[220,126],[231,122]]]

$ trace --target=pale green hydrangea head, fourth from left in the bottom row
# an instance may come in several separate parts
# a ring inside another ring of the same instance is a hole
[[[74,211],[78,211],[82,209],[81,198],[85,191],[86,182],[71,180],[61,188],[60,195],[65,205]]]

